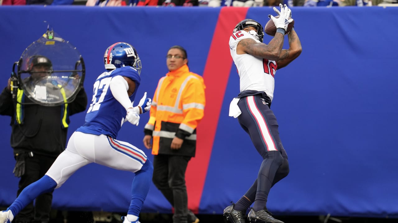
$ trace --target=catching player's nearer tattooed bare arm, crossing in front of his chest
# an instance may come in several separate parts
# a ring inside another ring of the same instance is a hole
[[[277,60],[281,56],[284,36],[282,33],[276,33],[275,37],[269,41],[269,44],[256,42],[252,38],[240,40],[236,46],[237,54],[250,54],[258,58],[268,60]]]

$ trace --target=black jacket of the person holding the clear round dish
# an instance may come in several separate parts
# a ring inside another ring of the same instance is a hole
[[[30,102],[26,97],[25,102]],[[61,125],[61,106],[23,105],[23,124],[16,124],[15,104],[12,94],[4,88],[0,94],[0,115],[11,116],[11,147],[14,153],[27,151],[57,157],[66,147],[68,128]],[[84,88],[78,92],[75,100],[68,104],[69,115],[86,110],[87,95]],[[67,120],[69,123],[69,120]]]

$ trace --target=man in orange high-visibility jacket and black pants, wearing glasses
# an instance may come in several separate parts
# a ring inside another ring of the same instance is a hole
[[[174,207],[173,223],[198,223],[188,210],[185,171],[195,156],[196,127],[205,109],[205,84],[201,76],[189,72],[184,48],[172,46],[166,58],[169,72],[155,90],[143,141],[155,155],[152,181]]]

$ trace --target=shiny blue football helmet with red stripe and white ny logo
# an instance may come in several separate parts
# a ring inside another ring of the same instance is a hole
[[[132,66],[141,73],[141,60],[137,50],[127,42],[117,42],[109,46],[103,56],[105,69]]]

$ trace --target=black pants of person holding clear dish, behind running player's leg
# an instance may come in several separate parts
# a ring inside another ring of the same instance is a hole
[[[49,156],[42,156],[33,154],[33,157],[25,160],[25,174],[22,175],[18,184],[17,196],[21,191],[31,183],[39,180],[45,175],[47,170],[51,167],[56,158]],[[50,220],[51,203],[53,201],[53,192],[44,193],[35,199],[35,206],[33,202],[28,204],[16,216],[15,223],[30,223],[30,222],[48,222]]]

